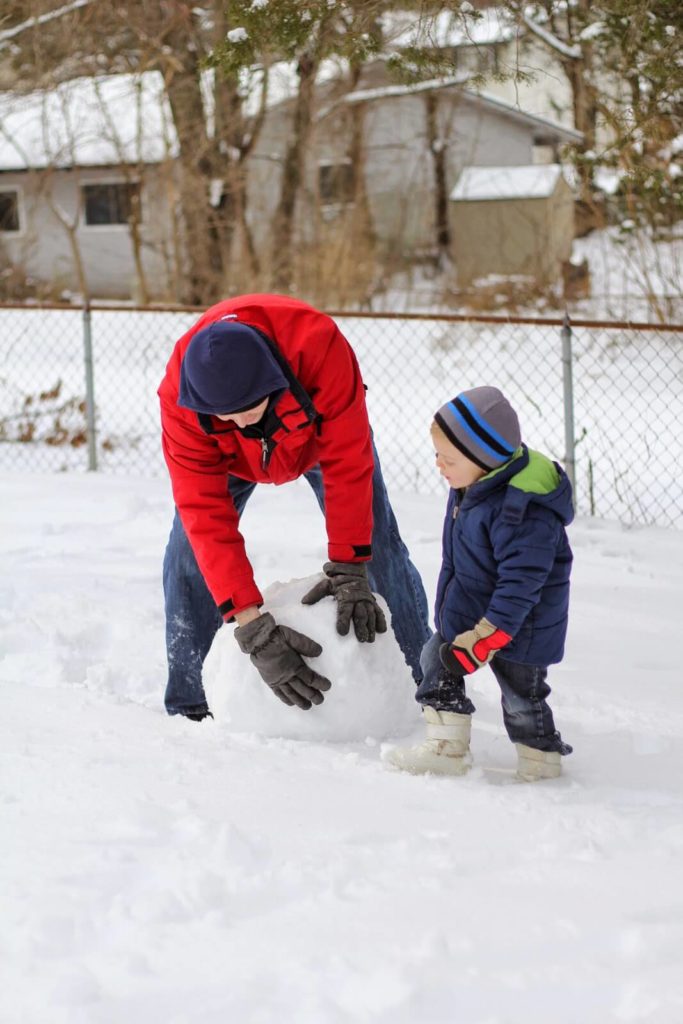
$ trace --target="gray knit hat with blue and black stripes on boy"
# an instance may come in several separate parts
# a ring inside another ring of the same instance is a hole
[[[511,459],[521,443],[517,414],[497,387],[461,391],[434,419],[451,443],[486,472]]]

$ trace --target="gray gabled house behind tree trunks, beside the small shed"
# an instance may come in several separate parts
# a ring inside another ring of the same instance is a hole
[[[439,227],[447,228],[447,197],[464,168],[526,166],[550,155],[557,162],[564,146],[581,141],[581,133],[477,92],[469,80],[462,74],[398,85],[376,61],[353,91],[321,90],[299,202],[302,238],[314,240],[321,219],[330,224],[348,213],[361,174],[379,246],[408,257],[429,252]],[[292,115],[292,100],[271,108],[254,148],[249,209],[257,239],[276,206]]]

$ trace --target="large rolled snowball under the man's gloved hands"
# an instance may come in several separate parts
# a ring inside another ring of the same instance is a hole
[[[273,583],[263,594],[263,611],[322,645],[323,653],[308,664],[332,682],[325,702],[310,711],[284,705],[227,627],[218,631],[204,665],[204,687],[216,722],[232,732],[335,742],[387,739],[413,731],[419,721],[415,683],[391,628],[372,644],[358,643],[352,627],[348,636],[340,637],[333,598],[301,604],[319,579]],[[386,604],[378,600],[389,623]]]

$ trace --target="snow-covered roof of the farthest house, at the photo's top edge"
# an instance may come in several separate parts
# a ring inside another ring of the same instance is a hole
[[[434,17],[420,17],[415,11],[388,11],[382,15],[384,38],[390,46],[446,49],[456,46],[486,46],[514,39],[516,26],[510,14],[498,7],[475,12],[461,7],[462,13],[440,11]]]

